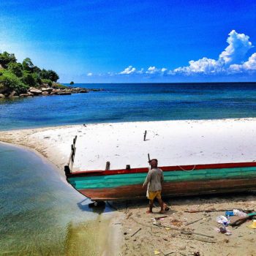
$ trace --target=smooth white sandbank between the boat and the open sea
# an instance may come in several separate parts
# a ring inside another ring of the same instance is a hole
[[[146,141],[143,140],[147,131]],[[256,118],[86,124],[0,132],[0,140],[34,148],[63,169],[78,135],[74,170],[256,160]]]

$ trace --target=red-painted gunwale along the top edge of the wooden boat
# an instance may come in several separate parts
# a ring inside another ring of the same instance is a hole
[[[217,164],[200,164],[200,165],[173,165],[159,167],[163,172],[167,171],[191,171],[201,169],[217,169],[217,168],[235,168],[235,167],[256,167],[256,162],[234,162],[234,163],[217,163]],[[67,174],[67,178],[80,176],[108,176],[129,173],[148,173],[148,167],[117,169],[117,170],[86,170],[76,171]]]

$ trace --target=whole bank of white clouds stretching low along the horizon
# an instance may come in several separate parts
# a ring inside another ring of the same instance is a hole
[[[121,72],[108,72],[105,75],[141,75],[145,78],[155,78],[166,75],[233,75],[246,72],[256,73],[256,53],[252,53],[249,59],[246,54],[254,46],[249,41],[249,36],[239,34],[235,30],[230,31],[227,37],[227,47],[217,59],[203,57],[198,60],[189,61],[189,65],[167,69],[150,66],[148,69],[136,69],[132,65]],[[91,76],[92,73],[88,73]]]

